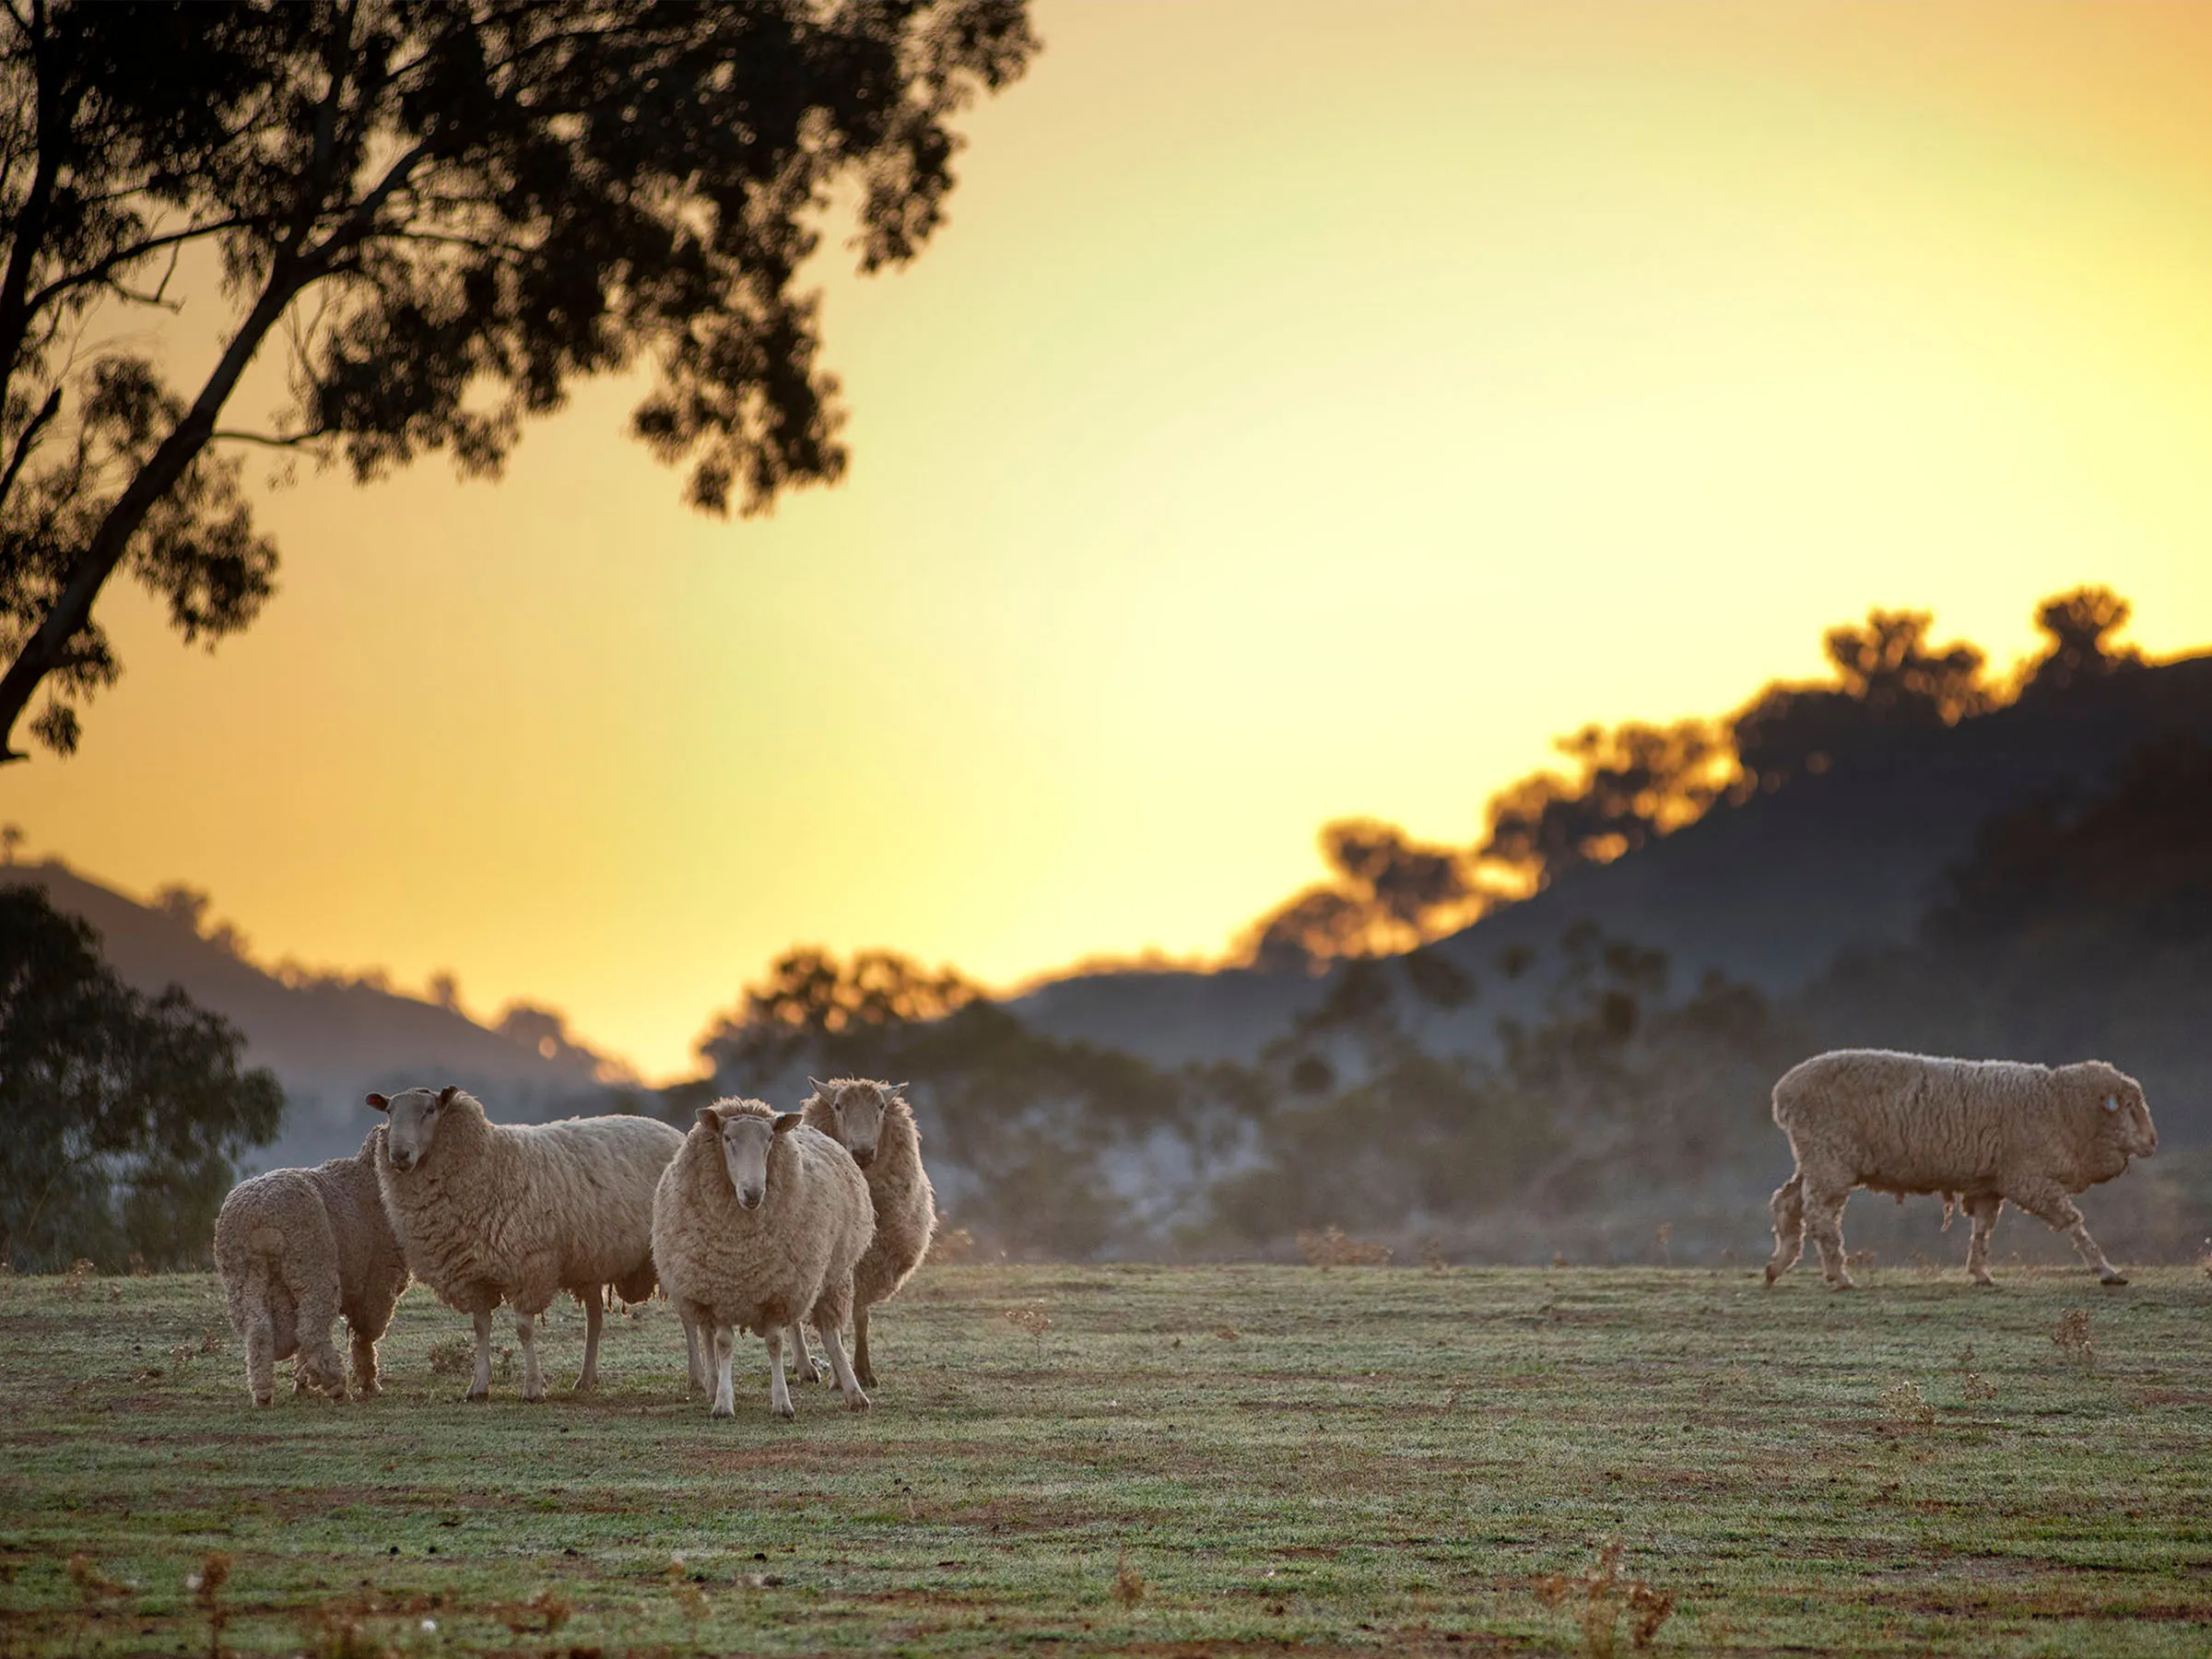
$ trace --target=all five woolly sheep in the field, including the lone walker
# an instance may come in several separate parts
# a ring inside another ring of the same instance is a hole
[[[810,1079],[812,1082],[812,1079]],[[544,1398],[535,1323],[562,1292],[586,1314],[584,1371],[597,1385],[602,1287],[637,1303],[659,1287],[684,1321],[690,1385],[737,1416],[737,1332],[768,1343],[768,1398],[790,1418],[790,1363],[834,1378],[867,1409],[876,1385],[867,1310],[898,1292],[929,1250],[936,1199],[902,1084],[814,1084],[799,1113],[757,1099],[699,1110],[688,1135],[650,1117],[493,1124],[460,1088],[369,1095],[387,1115],[349,1159],[243,1181],[215,1221],[215,1265],[246,1338],[254,1405],[292,1358],[292,1387],[343,1400],[330,1340],[343,1314],[354,1389],[376,1394],[376,1343],[409,1279],[476,1318],[469,1398],[491,1391],[491,1314],[513,1307],[522,1398]],[[1933,1192],[1944,1228],[1973,1221],[1966,1270],[1989,1276],[1989,1232],[2015,1203],[2073,1237],[2108,1285],[2128,1283],[2090,1239],[2073,1194],[2150,1157],[2159,1133],[2141,1086],[2088,1060],[2031,1066],[1845,1048],[1774,1084],[1774,1121],[1796,1172],[1774,1192],[1767,1283],[1812,1234],[1836,1290],[1843,1206],[1854,1188]],[[807,1352],[803,1327],[821,1338]],[[854,1352],[845,1354],[852,1325]]]

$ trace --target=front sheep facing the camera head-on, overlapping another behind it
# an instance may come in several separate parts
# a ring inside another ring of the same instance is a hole
[[[712,1345],[712,1416],[737,1416],[734,1329],[768,1338],[768,1405],[779,1418],[794,1416],[783,1332],[799,1321],[821,1334],[847,1409],[867,1411],[843,1327],[852,1270],[874,1232],[860,1168],[799,1113],[757,1099],[699,1108],[653,1194],[653,1259],[684,1321],[692,1387],[708,1387]]]

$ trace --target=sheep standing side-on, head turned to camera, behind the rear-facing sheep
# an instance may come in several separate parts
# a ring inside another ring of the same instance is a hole
[[[655,1117],[493,1124],[460,1091],[369,1095],[389,1113],[376,1181],[414,1276],[476,1318],[471,1400],[491,1396],[491,1310],[515,1310],[522,1398],[546,1396],[538,1316],[568,1292],[584,1305],[584,1371],[599,1385],[602,1285],[653,1294],[653,1183],[684,1135]]]

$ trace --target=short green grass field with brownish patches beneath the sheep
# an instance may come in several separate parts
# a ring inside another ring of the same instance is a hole
[[[385,1398],[254,1411],[212,1279],[0,1279],[0,1659],[204,1655],[217,1551],[239,1655],[1584,1652],[1610,1537],[1659,1652],[2212,1646],[2194,1267],[929,1267],[876,1329],[867,1416],[754,1343],[712,1422],[666,1307],[469,1407],[416,1290]]]

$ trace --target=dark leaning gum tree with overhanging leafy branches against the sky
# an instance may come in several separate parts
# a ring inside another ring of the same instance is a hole
[[[40,688],[31,734],[75,748],[117,571],[186,641],[254,619],[241,445],[491,476],[571,380],[650,361],[635,434],[692,504],[838,478],[794,288],[832,192],[863,270],[911,259],[953,115],[1037,46],[1024,0],[7,0],[0,35],[0,761]],[[232,314],[184,396],[128,341],[195,248]],[[272,343],[283,409],[226,425]]]

